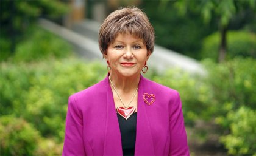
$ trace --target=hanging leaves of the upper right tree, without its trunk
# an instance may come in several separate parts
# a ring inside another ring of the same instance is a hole
[[[196,12],[202,16],[205,23],[216,18],[219,27],[227,27],[235,16],[239,16],[240,13],[246,13],[248,10],[254,10],[256,2],[254,0],[180,0],[176,1],[175,5],[182,15],[189,13],[189,11]]]

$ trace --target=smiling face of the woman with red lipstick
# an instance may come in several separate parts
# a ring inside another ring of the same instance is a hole
[[[141,69],[150,56],[142,39],[127,34],[118,34],[115,41],[108,45],[107,59],[111,73],[130,77],[140,75]]]

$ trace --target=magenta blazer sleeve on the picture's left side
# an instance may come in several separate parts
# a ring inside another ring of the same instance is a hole
[[[78,109],[77,103],[71,95],[68,99],[68,112],[66,114],[63,156],[85,155],[82,129],[82,112]]]

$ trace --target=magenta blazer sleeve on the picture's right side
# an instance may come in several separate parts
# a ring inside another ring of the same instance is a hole
[[[190,155],[182,113],[182,102],[178,92],[176,92],[175,99],[169,103],[169,115],[171,137],[169,155]]]

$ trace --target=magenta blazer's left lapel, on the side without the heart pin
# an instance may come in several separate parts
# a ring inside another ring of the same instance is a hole
[[[108,76],[105,78],[107,86],[107,114],[103,155],[123,155],[121,133],[119,130],[118,118],[115,110],[113,93],[108,83]]]

